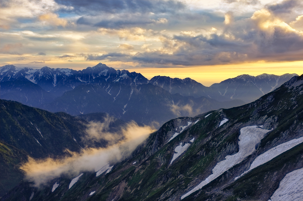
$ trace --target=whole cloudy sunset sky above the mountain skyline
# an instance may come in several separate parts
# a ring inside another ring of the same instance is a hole
[[[1,0],[0,66],[190,77],[303,74],[302,0]]]

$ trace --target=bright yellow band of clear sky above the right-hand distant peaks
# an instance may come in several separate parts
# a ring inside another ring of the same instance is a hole
[[[125,70],[141,73],[149,80],[157,75],[171,78],[178,77],[181,79],[190,77],[204,86],[209,87],[211,84],[220,83],[221,81],[237,77],[241,74],[257,76],[263,73],[274,75],[296,73],[301,75],[303,74],[303,61],[279,63],[259,61],[255,63],[195,66],[186,68],[129,68]]]

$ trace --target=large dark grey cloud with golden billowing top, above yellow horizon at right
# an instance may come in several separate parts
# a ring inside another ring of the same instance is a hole
[[[132,59],[141,63],[184,66],[258,60],[297,61],[303,55],[303,35],[282,21],[277,23],[263,10],[252,18],[226,25],[222,34],[175,35],[163,39],[162,46],[164,51],[138,53]]]

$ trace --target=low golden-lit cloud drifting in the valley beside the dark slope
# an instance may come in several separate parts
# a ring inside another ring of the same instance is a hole
[[[87,130],[87,139],[105,138],[111,142],[116,142],[118,137],[122,140],[107,148],[85,148],[81,153],[67,150],[67,156],[61,159],[35,160],[29,157],[28,162],[21,166],[21,169],[26,173],[26,179],[33,181],[35,186],[41,186],[62,175],[77,176],[83,171],[98,171],[108,162],[113,165],[115,162],[128,157],[151,132],[155,131],[151,127],[139,127],[136,123],[131,122],[121,128],[121,136],[120,133],[103,133],[103,130],[106,129],[105,124],[91,123]]]

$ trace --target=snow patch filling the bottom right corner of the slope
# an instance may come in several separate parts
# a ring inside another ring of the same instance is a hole
[[[280,182],[279,188],[271,196],[269,201],[301,200],[303,200],[303,168],[285,175]]]

